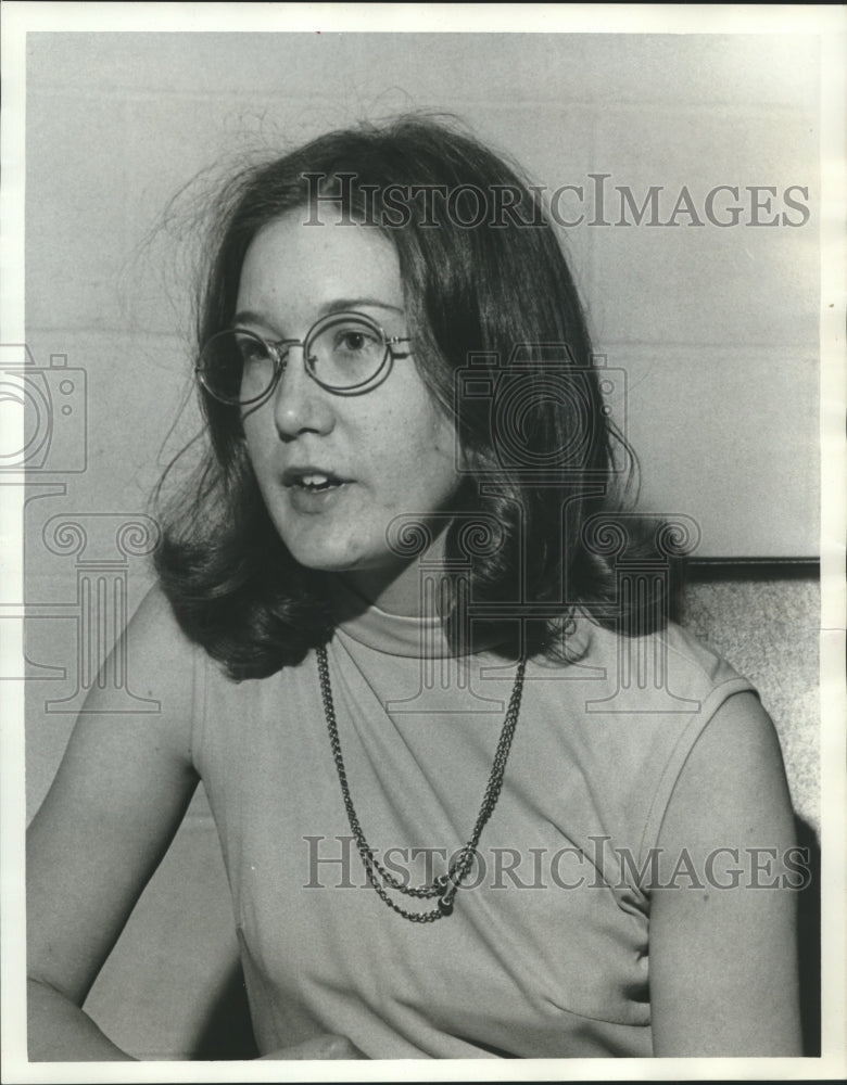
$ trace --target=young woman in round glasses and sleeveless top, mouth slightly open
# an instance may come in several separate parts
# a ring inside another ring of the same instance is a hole
[[[199,779],[266,1058],[799,1054],[779,743],[641,598],[538,191],[402,119],[216,210],[162,712],[80,717],[33,824],[30,1058],[126,1058],[79,1006]]]

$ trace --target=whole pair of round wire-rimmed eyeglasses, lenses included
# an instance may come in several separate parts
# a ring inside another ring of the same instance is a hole
[[[243,328],[217,332],[200,353],[194,369],[210,395],[230,406],[249,406],[269,396],[288,363],[292,346],[303,347],[306,372],[328,392],[357,395],[380,384],[408,336],[387,335],[364,312],[332,312],[309,328],[303,340],[268,342]]]

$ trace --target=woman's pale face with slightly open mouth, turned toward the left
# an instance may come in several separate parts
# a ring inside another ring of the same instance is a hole
[[[256,234],[236,324],[269,341],[302,341],[325,314],[355,310],[389,336],[408,334],[391,243],[372,228],[302,219],[290,212]],[[414,350],[414,343],[402,348]],[[243,427],[268,512],[294,559],[351,573],[354,582],[362,574],[366,590],[375,572],[397,566],[385,538],[390,521],[443,509],[459,483],[453,423],[410,356],[397,358],[371,391],[340,396],[318,385],[302,347],[291,347],[270,398],[244,408]]]

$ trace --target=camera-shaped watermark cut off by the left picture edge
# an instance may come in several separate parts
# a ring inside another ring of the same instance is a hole
[[[7,416],[0,471],[86,470],[86,371],[68,366],[67,355],[51,354],[48,366],[38,366],[25,344],[0,344],[0,406]]]

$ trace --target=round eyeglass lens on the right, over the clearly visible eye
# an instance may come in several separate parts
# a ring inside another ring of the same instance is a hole
[[[389,358],[379,324],[359,316],[327,317],[306,342],[306,366],[327,388],[350,391],[369,384]]]

